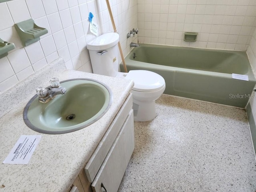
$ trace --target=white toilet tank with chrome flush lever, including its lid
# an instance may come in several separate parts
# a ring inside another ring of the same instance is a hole
[[[109,32],[96,37],[87,44],[93,73],[112,77],[117,75],[118,42],[119,35]]]

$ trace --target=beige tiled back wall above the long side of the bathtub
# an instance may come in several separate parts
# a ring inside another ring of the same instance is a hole
[[[256,26],[255,0],[138,0],[142,43],[247,50]],[[184,32],[198,32],[184,42]]]

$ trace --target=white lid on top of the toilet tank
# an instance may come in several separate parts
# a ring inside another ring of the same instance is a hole
[[[109,32],[96,37],[87,44],[88,50],[103,50],[118,44],[119,35],[114,32]]]

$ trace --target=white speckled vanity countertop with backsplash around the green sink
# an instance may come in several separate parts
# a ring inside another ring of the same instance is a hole
[[[113,102],[106,114],[92,125],[67,134],[35,132],[23,121],[26,103],[38,86],[48,86],[52,77],[60,81],[92,78],[107,84]],[[67,192],[88,162],[96,146],[130,93],[133,82],[96,74],[66,70],[60,58],[0,94],[0,192]],[[27,165],[2,164],[21,135],[42,135]]]

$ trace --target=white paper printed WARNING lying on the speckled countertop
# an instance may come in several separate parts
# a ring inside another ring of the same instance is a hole
[[[22,135],[11,152],[4,160],[4,164],[28,164],[36,146],[42,138],[41,135]]]

